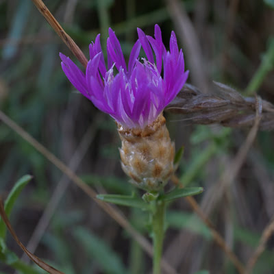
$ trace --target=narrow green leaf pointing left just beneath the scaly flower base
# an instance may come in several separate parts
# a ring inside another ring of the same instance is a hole
[[[130,206],[133,208],[149,209],[148,203],[145,203],[140,197],[134,195],[116,195],[116,194],[99,194],[97,199],[106,201],[108,203],[115,203],[120,206]]]

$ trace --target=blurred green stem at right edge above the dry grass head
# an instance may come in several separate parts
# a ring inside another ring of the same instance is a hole
[[[262,62],[258,67],[258,70],[253,75],[251,81],[247,86],[245,95],[253,95],[254,92],[258,91],[266,75],[273,69],[274,66],[274,38],[271,38],[269,42],[269,48],[262,57]]]

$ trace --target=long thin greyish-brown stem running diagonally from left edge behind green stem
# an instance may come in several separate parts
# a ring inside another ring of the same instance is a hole
[[[110,206],[108,203],[105,203],[99,199],[96,198],[97,192],[90,188],[81,178],[79,178],[71,169],[69,169],[68,166],[66,166],[62,161],[60,161],[58,158],[56,158],[53,153],[48,151],[43,145],[40,144],[36,139],[34,139],[32,136],[30,136],[25,130],[17,125],[14,121],[12,121],[8,116],[6,116],[3,112],[0,110],[0,120],[3,121],[8,127],[10,127],[14,132],[16,132],[19,136],[21,136],[24,140],[29,142],[32,147],[37,149],[42,155],[45,156],[51,163],[53,163],[60,171],[62,171],[66,176],[68,176],[79,188],[81,188],[90,198],[92,198],[97,205],[102,208],[114,221],[119,223],[121,227],[123,227],[131,236],[138,242],[138,244],[144,249],[149,256],[153,256],[153,249],[151,247],[151,244],[149,241],[143,237],[139,232],[130,225],[130,223],[125,219],[125,217],[121,214],[121,212],[114,208],[113,206]],[[167,273],[177,273],[173,267],[166,262],[165,260],[162,260],[162,268]]]

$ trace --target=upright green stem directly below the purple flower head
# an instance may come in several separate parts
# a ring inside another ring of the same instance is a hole
[[[165,204],[155,201],[155,212],[152,215],[153,229],[153,274],[161,273],[162,245],[164,241]]]

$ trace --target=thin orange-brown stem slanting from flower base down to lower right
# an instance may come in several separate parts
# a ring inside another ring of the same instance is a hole
[[[180,187],[184,187],[182,182],[180,182],[175,175],[173,175],[171,179],[176,185],[179,185]],[[245,267],[243,266],[242,262],[240,262],[240,260],[234,254],[234,252],[227,246],[227,244],[225,243],[225,240],[219,234],[219,232],[216,231],[216,229],[214,228],[214,225],[212,224],[210,219],[208,219],[206,214],[203,213],[197,201],[191,196],[186,197],[186,201],[188,201],[191,208],[196,212],[196,214],[199,216],[201,221],[203,221],[203,223],[208,227],[208,229],[210,229],[212,237],[214,238],[216,243],[219,245],[219,247],[221,247],[221,249],[223,249],[223,251],[227,254],[227,257],[234,264],[238,272],[241,274],[245,273]]]

